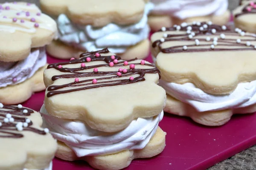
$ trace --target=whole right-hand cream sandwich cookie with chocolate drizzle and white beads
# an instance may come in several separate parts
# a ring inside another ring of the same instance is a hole
[[[163,27],[151,52],[166,90],[164,111],[203,125],[256,111],[256,37],[211,22]]]

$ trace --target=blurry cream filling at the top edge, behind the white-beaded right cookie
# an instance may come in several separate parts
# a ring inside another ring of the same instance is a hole
[[[221,15],[227,11],[228,0],[151,0],[152,14],[165,14],[184,20],[189,17]]]

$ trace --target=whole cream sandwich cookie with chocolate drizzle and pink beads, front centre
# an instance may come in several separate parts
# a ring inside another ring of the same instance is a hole
[[[118,170],[161,153],[166,93],[159,74],[149,62],[125,61],[107,48],[48,65],[40,113],[58,140],[55,156]]]

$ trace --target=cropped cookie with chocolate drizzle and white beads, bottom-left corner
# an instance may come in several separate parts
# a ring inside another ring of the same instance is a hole
[[[57,142],[38,112],[0,103],[0,170],[52,170]]]

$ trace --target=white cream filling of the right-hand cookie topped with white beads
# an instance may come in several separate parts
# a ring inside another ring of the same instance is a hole
[[[227,95],[207,94],[192,83],[180,85],[160,80],[159,85],[167,94],[192,105],[199,112],[244,108],[256,103],[256,80],[239,83],[236,90]]]

